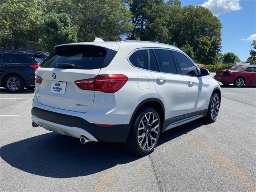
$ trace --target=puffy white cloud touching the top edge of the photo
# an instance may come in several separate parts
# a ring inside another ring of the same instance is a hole
[[[208,8],[215,16],[242,9],[239,0],[208,0],[201,6]]]

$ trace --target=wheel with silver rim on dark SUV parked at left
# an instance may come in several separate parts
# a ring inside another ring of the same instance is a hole
[[[11,93],[18,93],[24,89],[23,79],[15,74],[5,78],[4,87]]]

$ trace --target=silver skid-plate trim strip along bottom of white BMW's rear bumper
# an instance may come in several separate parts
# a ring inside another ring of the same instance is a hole
[[[61,135],[67,135],[67,136],[71,136],[71,137],[79,138],[79,139],[81,138],[81,136],[85,136],[91,141],[98,142],[98,140],[94,136],[92,136],[86,130],[83,130],[81,128],[69,127],[69,126],[53,123],[50,121],[40,119],[34,115],[31,118],[32,118],[32,121],[34,121],[40,127],[45,128],[46,130],[54,131]]]

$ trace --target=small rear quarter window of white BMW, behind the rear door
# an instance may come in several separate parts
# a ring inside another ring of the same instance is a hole
[[[144,49],[134,52],[129,60],[135,67],[148,69],[148,50]]]

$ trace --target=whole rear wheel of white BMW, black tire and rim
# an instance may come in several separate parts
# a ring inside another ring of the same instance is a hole
[[[124,146],[129,152],[137,155],[150,154],[157,145],[161,132],[160,125],[161,122],[159,115],[154,108],[147,107],[141,110],[134,118],[130,128],[130,133],[126,142],[124,143]]]

